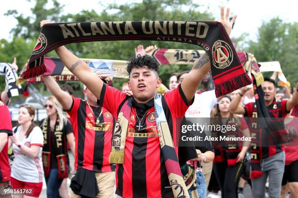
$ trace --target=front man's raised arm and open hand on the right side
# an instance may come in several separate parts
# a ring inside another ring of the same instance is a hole
[[[232,26],[237,16],[234,16],[231,21],[229,21],[230,9],[226,9],[226,13],[224,15],[224,7],[221,7],[221,20],[218,20],[223,24],[225,31],[230,35]],[[190,101],[198,86],[200,85],[202,79],[210,71],[210,59],[208,55],[203,54],[199,60],[197,60],[191,71],[187,74],[186,78],[181,82],[181,88],[183,93],[186,96],[186,99]]]

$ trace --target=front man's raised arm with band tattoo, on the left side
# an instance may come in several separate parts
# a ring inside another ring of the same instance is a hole
[[[49,20],[41,21],[40,27],[46,23],[49,23]],[[98,78],[93,70],[64,46],[56,48],[55,51],[63,64],[88,87],[96,98],[99,98],[103,81]]]

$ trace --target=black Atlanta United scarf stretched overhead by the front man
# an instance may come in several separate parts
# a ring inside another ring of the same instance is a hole
[[[224,27],[214,21],[120,21],[50,23],[43,26],[19,82],[46,72],[44,54],[70,43],[112,40],[152,40],[188,43],[210,57],[216,96],[251,83]]]

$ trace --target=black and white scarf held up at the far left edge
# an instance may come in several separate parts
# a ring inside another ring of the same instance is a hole
[[[5,75],[5,82],[8,86],[8,97],[19,96],[23,93],[22,87],[16,84],[18,74],[11,68],[9,63],[0,63],[0,75]]]

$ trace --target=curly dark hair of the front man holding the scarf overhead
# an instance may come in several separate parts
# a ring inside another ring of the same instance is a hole
[[[141,56],[140,54],[137,55],[136,58],[130,58],[127,61],[127,72],[130,75],[130,72],[133,68],[140,68],[140,67],[148,67],[150,70],[154,70],[158,74],[158,63],[148,54]]]

